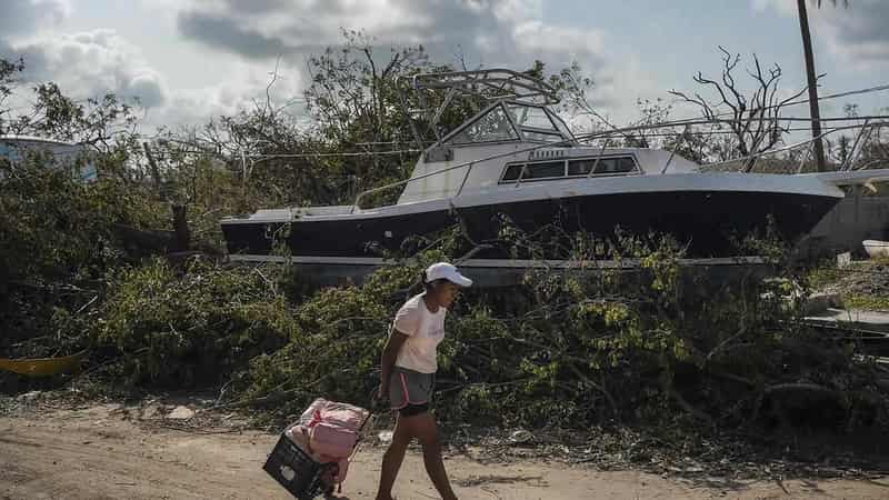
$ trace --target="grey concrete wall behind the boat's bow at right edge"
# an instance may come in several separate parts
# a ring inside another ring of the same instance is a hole
[[[861,188],[840,201],[799,244],[803,257],[827,257],[851,251],[863,256],[863,240],[889,240],[889,186],[880,196],[863,196]]]

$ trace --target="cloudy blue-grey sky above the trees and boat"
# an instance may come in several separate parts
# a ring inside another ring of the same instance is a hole
[[[787,91],[805,86],[796,0],[4,0],[0,56],[24,56],[33,81],[86,97],[138,96],[149,121],[194,124],[236,112],[264,91],[282,56],[276,94],[298,94],[304,60],[363,29],[380,46],[423,43],[447,61],[557,68],[577,60],[599,86],[593,99],[617,122],[637,98],[695,90],[698,70],[719,74],[717,46],[779,63]],[[810,10],[822,93],[889,83],[889,1],[829,1]],[[825,103],[889,107],[889,92]],[[793,110],[805,114],[805,107]],[[677,107],[676,118],[693,116]]]

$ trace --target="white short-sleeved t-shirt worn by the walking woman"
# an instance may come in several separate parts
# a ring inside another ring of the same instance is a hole
[[[439,307],[430,312],[423,301],[423,293],[412,297],[401,306],[392,321],[392,328],[408,336],[396,359],[396,366],[420,373],[434,373],[438,370],[436,350],[444,340],[444,316],[448,310]]]

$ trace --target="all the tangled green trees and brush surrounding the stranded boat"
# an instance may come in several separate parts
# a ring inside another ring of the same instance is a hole
[[[0,130],[89,144],[100,179],[76,181],[48,158],[0,163],[0,330],[10,332],[0,352],[86,349],[89,364],[103,367],[114,384],[224,389],[226,401],[274,417],[318,394],[368,403],[389,321],[420,269],[473,248],[459,227],[406,243],[361,284],[323,290],[286,268],[227,267],[212,256],[223,253],[223,214],[350,202],[359,190],[407,177],[412,156],[324,156],[414,140],[407,117],[394,111],[398,82],[449,69],[422,48],[377,62],[360,33],[312,58],[311,128],[267,101],[144,147],[131,104],[113,96],[77,101],[49,83],[34,89],[27,118],[2,110]],[[0,106],[20,70],[0,66]],[[578,67],[547,74],[538,62],[529,73],[565,93],[575,112],[595,114],[585,93],[593,82]],[[446,128],[472,110],[451,112],[442,117]],[[640,123],[651,124],[666,120],[669,107],[640,102]],[[708,144],[687,132],[683,147],[696,158],[732,150],[723,139]],[[202,257],[169,254],[170,206],[188,208],[191,248]],[[768,233],[741,237],[738,244],[772,259],[782,280],[715,279],[680,266],[682,248],[657,234],[606,241],[551,228],[530,236],[503,220],[500,241],[488,244],[512,256],[535,259],[559,246],[578,261],[640,266],[541,268],[518,287],[468,290],[441,347],[440,416],[503,426],[889,423],[878,383],[885,374],[873,360],[797,322],[802,304],[785,300],[798,278],[782,260],[786,248]]]

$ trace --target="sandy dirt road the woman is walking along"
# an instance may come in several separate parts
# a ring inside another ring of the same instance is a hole
[[[261,470],[277,437],[197,434],[139,421],[118,404],[0,418],[0,499],[287,499]],[[372,499],[382,449],[362,449],[344,499]],[[879,481],[793,480],[710,487],[642,472],[601,472],[562,463],[482,464],[449,456],[461,499],[887,499]],[[783,488],[782,488],[783,487]],[[787,490],[787,492],[785,491]],[[411,451],[399,476],[401,500],[436,499]]]

